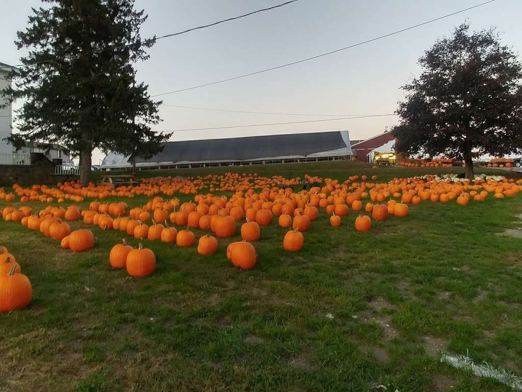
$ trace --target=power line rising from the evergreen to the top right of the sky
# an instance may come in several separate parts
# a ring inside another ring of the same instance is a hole
[[[353,44],[353,45],[349,45],[349,46],[347,46],[347,47],[340,48],[340,49],[336,49],[336,50],[333,50],[333,51],[330,51],[330,52],[327,52],[327,53],[318,54],[318,55],[316,55],[316,56],[312,56],[312,57],[307,57],[306,59],[302,59],[302,60],[294,61],[294,62],[292,62],[292,63],[282,64],[282,65],[278,65],[278,66],[275,66],[275,67],[267,68],[266,70],[261,70],[261,71],[251,72],[251,73],[249,73],[249,74],[244,74],[244,75],[234,76],[234,77],[230,77],[230,78],[228,78],[228,79],[217,80],[216,82],[210,82],[210,83],[205,83],[205,84],[201,84],[201,85],[198,85],[198,86],[182,88],[182,89],[180,89],[180,90],[169,91],[168,93],[161,93],[161,94],[151,95],[151,97],[161,97],[161,96],[163,96],[163,95],[174,94],[174,93],[181,93],[182,91],[193,90],[193,89],[195,89],[195,88],[207,87],[207,86],[212,86],[212,85],[219,84],[219,83],[230,82],[230,80],[236,80],[236,79],[240,79],[240,78],[247,77],[247,76],[252,76],[252,75],[262,74],[262,73],[264,73],[264,72],[269,72],[269,71],[278,70],[279,68],[288,67],[288,66],[290,66],[290,65],[295,65],[295,64],[303,63],[303,62],[305,62],[305,61],[310,61],[310,60],[318,59],[319,57],[323,57],[323,56],[327,56],[327,55],[330,55],[330,54],[333,54],[333,53],[341,52],[341,51],[343,51],[343,50],[347,50],[347,49],[355,48],[355,47],[358,47],[358,46],[360,46],[360,45],[364,45],[364,44],[366,44],[366,43],[370,43],[370,42],[377,41],[377,40],[380,40],[380,39],[383,39],[383,38],[387,38],[387,37],[390,37],[390,36],[394,36],[395,34],[399,34],[399,33],[401,33],[401,32],[407,31],[407,30],[411,30],[411,29],[414,29],[414,28],[417,28],[417,27],[420,27],[420,26],[428,25],[428,24],[430,24],[430,23],[432,23],[432,22],[435,22],[435,21],[437,21],[437,20],[441,20],[441,19],[444,19],[444,18],[448,18],[448,17],[450,17],[450,16],[453,16],[453,15],[457,15],[457,14],[463,13],[463,12],[468,11],[468,10],[473,9],[473,8],[481,7],[481,6],[483,6],[483,5],[486,5],[486,4],[489,4],[489,3],[493,3],[493,2],[495,2],[495,1],[496,1],[496,0],[489,0],[489,1],[485,2],[485,3],[481,3],[481,4],[474,5],[474,6],[472,6],[472,7],[468,7],[468,8],[465,8],[465,9],[461,9],[461,10],[456,11],[456,12],[454,12],[454,13],[447,14],[447,15],[444,15],[444,16],[441,16],[441,17],[438,17],[438,18],[435,18],[435,19],[431,19],[431,20],[428,20],[428,21],[425,21],[425,22],[419,23],[419,24],[414,25],[414,26],[410,26],[410,27],[407,27],[407,28],[404,28],[404,29],[400,29],[400,30],[397,30],[397,31],[394,31],[394,32],[388,33],[388,34],[384,34],[383,36],[379,36],[379,37],[375,37],[375,38],[372,38],[372,39],[369,39],[369,40],[366,40],[366,41],[358,42],[358,43],[355,43],[355,44]]]

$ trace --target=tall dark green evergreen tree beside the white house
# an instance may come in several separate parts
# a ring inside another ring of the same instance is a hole
[[[19,49],[29,53],[13,75],[15,86],[0,91],[18,110],[15,147],[27,141],[59,143],[80,156],[81,181],[90,180],[93,148],[150,156],[168,135],[151,130],[160,122],[148,86],[136,81],[133,64],[148,59],[142,41],[144,10],[134,0],[42,0],[33,8]]]

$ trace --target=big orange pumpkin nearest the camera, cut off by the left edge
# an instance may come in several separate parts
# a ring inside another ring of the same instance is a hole
[[[0,275],[0,312],[23,309],[32,299],[31,282],[26,275],[16,272],[16,266]]]

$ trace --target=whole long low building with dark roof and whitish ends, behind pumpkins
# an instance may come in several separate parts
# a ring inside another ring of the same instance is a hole
[[[232,137],[167,142],[150,159],[136,159],[138,168],[253,165],[351,159],[348,131]],[[129,168],[127,157],[108,154],[102,169]]]

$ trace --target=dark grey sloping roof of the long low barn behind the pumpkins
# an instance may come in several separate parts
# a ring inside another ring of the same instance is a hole
[[[136,163],[255,160],[321,153],[351,155],[348,131],[167,142],[161,153],[151,159],[138,158]]]

